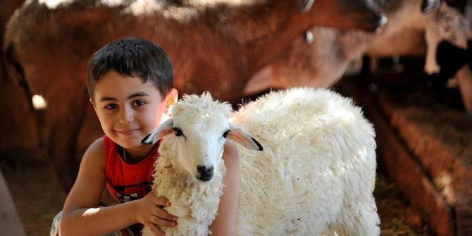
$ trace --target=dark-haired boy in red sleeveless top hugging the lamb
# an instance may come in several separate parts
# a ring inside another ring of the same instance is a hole
[[[164,235],[158,226],[173,227],[178,219],[162,209],[171,202],[149,193],[160,142],[152,147],[141,140],[161,123],[178,97],[170,60],[159,45],[126,38],[97,51],[88,70],[90,101],[105,135],[85,151],[62,216],[55,219],[61,221],[60,234],[140,235],[142,225],[147,225],[156,235]],[[237,149],[229,142],[223,159],[226,187],[210,225],[213,235],[235,232],[240,170]],[[118,204],[99,207],[105,186]]]

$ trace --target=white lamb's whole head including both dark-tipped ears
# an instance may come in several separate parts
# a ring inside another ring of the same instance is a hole
[[[154,144],[161,137],[175,135],[180,168],[198,180],[212,180],[227,138],[248,149],[262,150],[256,139],[230,123],[230,104],[213,100],[208,92],[184,95],[172,113],[173,118],[152,130],[142,142]]]

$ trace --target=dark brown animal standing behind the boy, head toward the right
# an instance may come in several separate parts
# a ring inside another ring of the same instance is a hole
[[[9,21],[4,49],[9,74],[46,99],[49,156],[69,190],[88,104],[87,61],[111,40],[157,42],[181,93],[209,90],[236,104],[251,74],[312,25],[373,31],[384,21],[370,0],[30,1]]]

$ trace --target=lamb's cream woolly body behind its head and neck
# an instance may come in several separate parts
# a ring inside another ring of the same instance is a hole
[[[371,228],[379,223],[375,132],[351,99],[325,89],[271,92],[242,107],[233,122],[264,145],[263,152],[238,149],[237,235],[317,235],[327,228],[343,235],[337,226],[349,222],[366,227],[361,235],[378,235]],[[358,207],[368,217],[356,221],[343,210],[355,199],[366,199]]]

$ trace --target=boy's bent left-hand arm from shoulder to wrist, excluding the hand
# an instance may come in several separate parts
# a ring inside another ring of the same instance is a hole
[[[104,235],[136,223],[130,206],[98,207],[105,186],[104,168],[104,143],[100,138],[82,157],[77,179],[63,207],[61,235]]]

